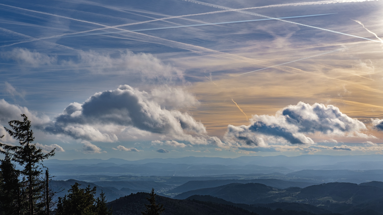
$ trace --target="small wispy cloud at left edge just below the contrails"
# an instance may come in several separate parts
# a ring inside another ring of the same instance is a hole
[[[14,48],[8,52],[2,52],[2,58],[15,60],[32,66],[51,65],[57,62],[57,56],[50,56],[26,48]]]

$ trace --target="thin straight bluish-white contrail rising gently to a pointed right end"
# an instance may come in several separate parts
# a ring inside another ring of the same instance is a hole
[[[280,18],[277,18],[277,19],[303,18],[303,17],[323,16],[323,15],[331,15],[331,14],[336,14],[336,13],[326,13],[326,14],[316,14],[316,15],[306,15],[306,16],[288,16],[288,17],[280,17]],[[273,18],[273,19],[274,19],[274,18]],[[155,27],[155,28],[138,29],[138,30],[129,30],[129,31],[131,31],[131,32],[137,32],[137,31],[151,31],[151,30],[172,29],[172,28],[180,28],[180,27],[195,27],[195,26],[207,26],[207,25],[230,24],[230,23],[247,23],[247,22],[264,21],[264,20],[271,20],[271,18],[267,18],[267,19],[242,20],[242,21],[231,21],[231,22],[222,22],[222,23],[204,23],[204,24],[191,24],[191,25],[170,26],[170,27]],[[69,37],[90,36],[90,35],[98,35],[98,34],[116,34],[116,33],[123,33],[123,32],[126,32],[126,31],[99,32],[99,33],[93,33],[93,34],[81,34],[81,35],[69,36]],[[65,37],[65,36],[64,36],[64,37]],[[66,37],[67,37],[67,36],[66,36]]]

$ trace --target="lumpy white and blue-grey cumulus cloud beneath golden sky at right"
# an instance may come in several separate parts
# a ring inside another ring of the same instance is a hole
[[[245,150],[272,151],[269,144],[314,144],[306,136],[323,134],[328,136],[368,137],[361,133],[366,126],[350,118],[333,105],[298,102],[278,111],[276,115],[254,115],[249,126],[229,125],[224,135],[227,144]],[[259,147],[259,149],[253,149]]]

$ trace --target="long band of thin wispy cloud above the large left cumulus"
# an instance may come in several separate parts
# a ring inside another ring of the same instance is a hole
[[[14,48],[2,52],[3,59],[13,60],[24,65],[65,66],[68,69],[87,69],[92,73],[139,74],[143,79],[157,81],[183,81],[183,71],[162,62],[150,53],[133,53],[129,50],[119,52],[96,52],[77,50],[73,59],[59,59],[57,55],[48,55],[26,48]]]

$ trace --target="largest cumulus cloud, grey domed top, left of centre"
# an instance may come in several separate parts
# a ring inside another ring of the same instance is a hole
[[[169,95],[177,92],[174,101]],[[128,85],[121,85],[113,91],[103,91],[92,95],[83,104],[71,103],[55,121],[46,126],[45,131],[52,134],[66,134],[74,139],[88,141],[115,142],[116,133],[124,128],[135,128],[174,139],[189,141],[192,144],[219,144],[217,137],[206,135],[205,126],[196,121],[191,115],[178,110],[168,110],[164,106],[171,105],[182,97],[179,103],[190,105],[195,98],[188,93],[182,94],[181,89],[171,89],[160,94],[158,89],[154,94],[139,91]],[[162,100],[165,96],[165,102]],[[161,100],[162,102],[158,102]],[[194,134],[191,135],[191,134]],[[176,141],[165,142],[166,145],[184,147]]]

